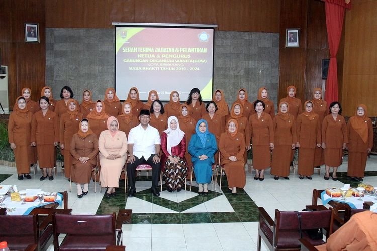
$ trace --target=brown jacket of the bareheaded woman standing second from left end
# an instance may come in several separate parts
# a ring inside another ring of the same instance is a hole
[[[55,112],[47,110],[43,116],[40,110],[33,115],[30,141],[37,145],[53,145],[59,141],[59,118]]]

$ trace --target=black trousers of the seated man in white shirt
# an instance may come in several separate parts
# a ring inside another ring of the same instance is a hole
[[[128,184],[130,187],[135,187],[136,167],[140,164],[148,164],[152,167],[152,188],[158,187],[158,180],[161,172],[161,161],[159,163],[153,163],[153,156],[154,154],[151,154],[147,160],[145,160],[144,156],[140,159],[135,156],[134,163],[127,164]]]

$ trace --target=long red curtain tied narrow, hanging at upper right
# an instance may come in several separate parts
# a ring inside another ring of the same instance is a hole
[[[336,66],[336,54],[338,53],[340,37],[342,35],[345,8],[338,4],[326,1],[326,27],[330,48],[330,63],[327,74],[325,100],[329,105],[338,101],[338,70]]]

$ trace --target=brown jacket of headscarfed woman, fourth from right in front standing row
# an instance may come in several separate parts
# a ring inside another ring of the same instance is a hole
[[[296,120],[293,115],[290,114],[290,118],[287,120],[276,115],[272,122],[275,145],[292,145],[297,142]]]

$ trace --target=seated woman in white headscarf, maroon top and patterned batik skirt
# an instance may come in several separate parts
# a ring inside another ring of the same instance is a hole
[[[179,192],[187,176],[187,162],[184,158],[186,152],[186,137],[179,128],[178,118],[171,116],[167,120],[168,129],[162,132],[161,149],[161,170],[166,180],[167,191]]]

